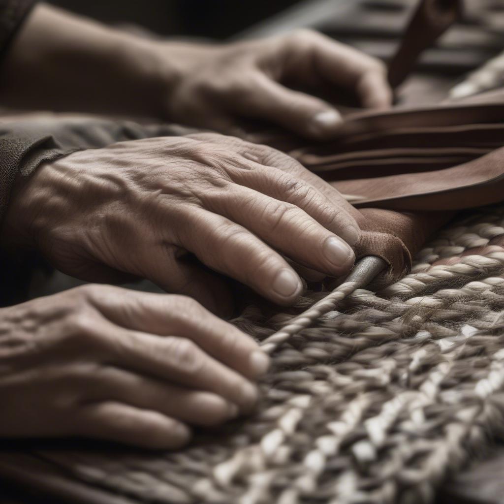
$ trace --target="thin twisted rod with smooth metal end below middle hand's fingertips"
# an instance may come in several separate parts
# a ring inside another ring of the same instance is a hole
[[[366,256],[360,259],[345,282],[336,287],[325,298],[303,311],[298,317],[292,319],[280,331],[266,338],[261,343],[261,348],[266,353],[273,353],[279,345],[285,343],[302,329],[310,327],[326,313],[334,310],[338,302],[345,299],[356,289],[365,287],[376,275],[383,271],[386,264],[382,258],[377,256]]]

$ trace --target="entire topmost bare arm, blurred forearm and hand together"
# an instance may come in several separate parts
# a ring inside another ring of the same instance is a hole
[[[160,42],[43,3],[16,35],[1,77],[11,108],[142,115],[232,135],[255,118],[327,139],[341,123],[319,98],[327,91],[336,102],[354,93],[364,107],[392,101],[379,60],[309,30],[225,45]]]

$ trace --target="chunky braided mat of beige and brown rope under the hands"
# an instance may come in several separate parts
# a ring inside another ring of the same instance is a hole
[[[504,426],[502,273],[504,206],[459,218],[411,274],[284,344],[255,416],[178,453],[32,455],[134,502],[429,502]],[[264,339],[322,296],[250,306],[235,323]]]

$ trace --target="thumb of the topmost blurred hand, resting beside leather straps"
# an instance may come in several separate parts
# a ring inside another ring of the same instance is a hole
[[[338,132],[341,115],[324,100],[288,89],[264,74],[254,84],[253,93],[242,102],[241,113],[267,119],[313,140],[328,139]]]

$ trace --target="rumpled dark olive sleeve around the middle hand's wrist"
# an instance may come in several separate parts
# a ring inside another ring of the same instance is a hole
[[[94,117],[47,115],[14,122],[0,120],[0,221],[15,178],[31,175],[46,161],[115,142],[191,132],[177,125],[141,125]]]

